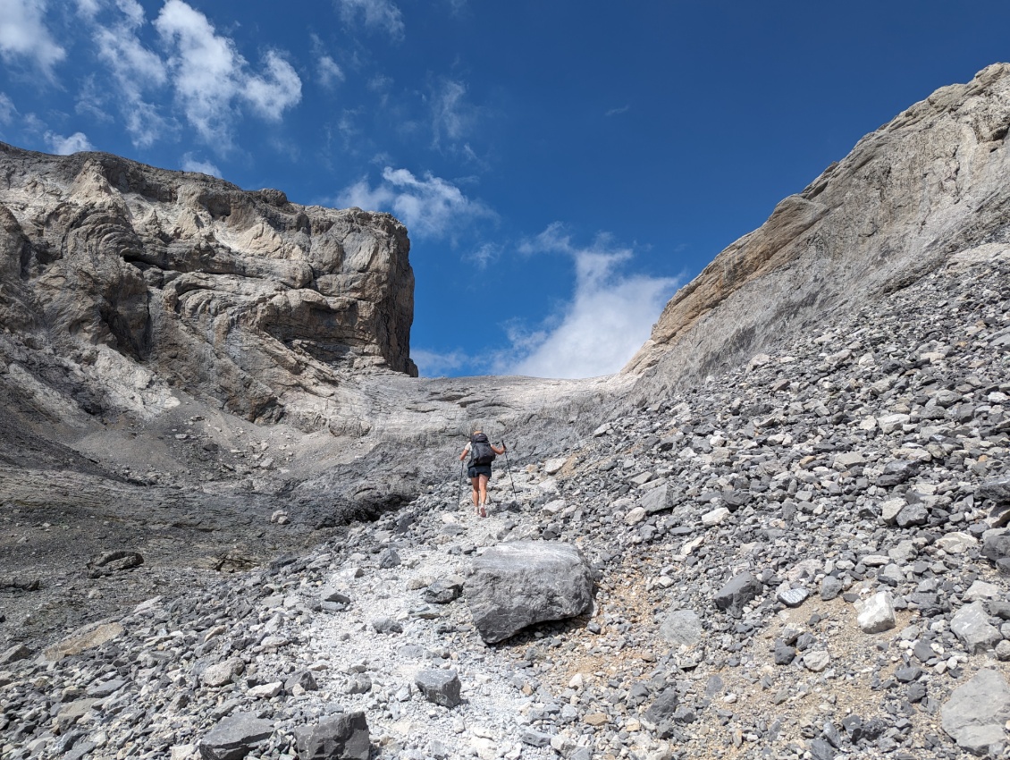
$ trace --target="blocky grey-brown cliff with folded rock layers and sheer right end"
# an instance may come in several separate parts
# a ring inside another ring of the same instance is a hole
[[[417,374],[388,214],[105,154],[0,145],[0,325],[96,376],[99,404],[157,407],[166,384],[271,420],[337,370]]]

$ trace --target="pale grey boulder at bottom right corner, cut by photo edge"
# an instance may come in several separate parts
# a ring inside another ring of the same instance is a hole
[[[940,708],[945,731],[963,750],[991,753],[1005,741],[1003,725],[1010,720],[1010,686],[995,670],[980,670],[953,690]]]

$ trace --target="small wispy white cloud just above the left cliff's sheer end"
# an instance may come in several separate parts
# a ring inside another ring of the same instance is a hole
[[[367,179],[346,188],[337,203],[392,211],[419,238],[451,236],[456,228],[476,218],[495,216],[456,185],[430,173],[418,179],[407,169],[386,167],[382,176],[383,181],[374,188]]]

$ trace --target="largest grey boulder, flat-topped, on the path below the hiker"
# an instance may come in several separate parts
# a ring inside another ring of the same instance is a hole
[[[474,562],[464,595],[481,638],[504,641],[534,623],[581,614],[592,602],[589,565],[576,547],[514,541]]]

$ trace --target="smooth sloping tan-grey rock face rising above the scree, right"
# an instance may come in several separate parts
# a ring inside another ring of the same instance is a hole
[[[943,87],[829,166],[671,299],[623,372],[643,394],[857,311],[1010,221],[1010,65]]]

